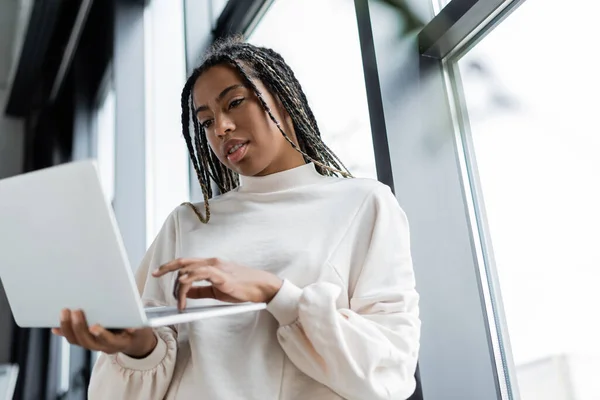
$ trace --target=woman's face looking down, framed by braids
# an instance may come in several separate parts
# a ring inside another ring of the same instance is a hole
[[[254,83],[283,131],[297,143],[281,103],[261,82]],[[226,167],[241,175],[262,176],[304,163],[233,67],[217,65],[205,71],[194,85],[193,99],[208,143]]]

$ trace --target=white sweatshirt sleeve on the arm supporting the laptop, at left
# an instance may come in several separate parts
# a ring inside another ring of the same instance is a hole
[[[166,279],[156,279],[149,274],[176,258],[176,234],[177,213],[174,211],[146,252],[135,274],[138,291],[146,306],[167,304]],[[165,397],[175,369],[177,334],[170,327],[157,328],[154,333],[158,339],[157,346],[146,358],[134,359],[122,353],[100,354],[88,388],[90,400],[150,400]]]

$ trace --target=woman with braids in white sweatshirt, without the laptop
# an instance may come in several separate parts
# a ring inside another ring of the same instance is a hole
[[[142,299],[267,310],[122,333],[64,310],[55,333],[103,352],[89,398],[410,396],[420,320],[405,214],[387,186],[339,177],[283,58],[217,43],[183,89],[182,123],[204,202],[168,217],[136,273]]]

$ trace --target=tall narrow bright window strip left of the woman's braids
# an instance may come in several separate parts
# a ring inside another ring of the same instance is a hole
[[[190,195],[188,154],[181,133],[183,20],[181,0],[152,0],[144,12],[147,244],[169,213]]]

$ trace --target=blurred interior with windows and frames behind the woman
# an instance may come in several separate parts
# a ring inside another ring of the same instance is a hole
[[[599,15],[591,0],[0,0],[0,179],[97,159],[137,265],[201,199],[186,76],[242,33],[283,55],[325,142],[408,214],[413,398],[597,400]],[[85,399],[94,360],[16,326],[0,286],[0,399]]]

